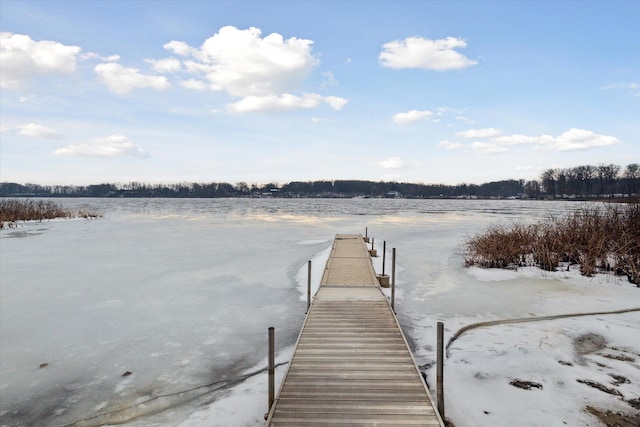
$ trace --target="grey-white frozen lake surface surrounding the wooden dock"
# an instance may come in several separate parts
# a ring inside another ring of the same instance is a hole
[[[267,328],[276,328],[278,360],[286,362],[304,319],[307,261],[317,284],[333,236],[364,234],[365,227],[379,254],[383,240],[397,248],[398,317],[422,365],[435,359],[438,320],[451,335],[482,320],[615,310],[638,301],[633,286],[615,279],[602,284],[538,271],[483,276],[464,267],[465,236],[493,223],[561,215],[576,202],[58,201],[98,207],[105,217],[0,231],[0,425],[260,425],[266,374],[247,374],[266,366]],[[380,271],[381,259],[374,265]],[[624,343],[626,326],[638,326],[637,314],[628,316],[611,341]],[[451,369],[465,364],[461,341],[452,348],[458,353]],[[465,387],[456,388],[474,372],[456,372],[449,414],[458,427],[470,427],[477,415],[464,407],[480,411],[485,403],[466,401]],[[640,374],[631,397],[640,397],[639,382]],[[487,416],[477,425],[510,425],[508,413]]]

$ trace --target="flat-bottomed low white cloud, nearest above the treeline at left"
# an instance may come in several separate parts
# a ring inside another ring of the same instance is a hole
[[[54,151],[61,156],[78,157],[150,157],[150,154],[142,148],[136,147],[133,142],[122,134],[115,134],[105,138],[95,138],[89,142],[78,145],[69,145]]]

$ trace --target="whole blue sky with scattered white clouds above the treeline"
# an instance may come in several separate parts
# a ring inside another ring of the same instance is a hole
[[[635,0],[2,0],[0,181],[624,168],[639,21]]]

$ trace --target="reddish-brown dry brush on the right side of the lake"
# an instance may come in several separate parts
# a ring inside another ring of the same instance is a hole
[[[467,265],[554,271],[579,264],[585,276],[612,271],[640,286],[640,204],[583,207],[535,224],[495,225],[467,239],[463,253]]]

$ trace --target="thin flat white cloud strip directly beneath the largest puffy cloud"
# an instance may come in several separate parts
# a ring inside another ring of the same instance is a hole
[[[329,104],[334,110],[340,110],[347,103],[347,100],[335,96],[322,97],[317,93],[305,93],[302,96],[284,93],[282,95],[246,96],[239,101],[228,104],[227,109],[234,113],[277,112],[316,108],[323,102]]]

